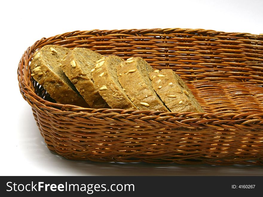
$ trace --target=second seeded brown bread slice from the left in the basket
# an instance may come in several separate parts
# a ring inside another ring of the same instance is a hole
[[[103,56],[86,48],[74,48],[66,53],[60,65],[91,108],[109,108],[92,81],[91,69]]]

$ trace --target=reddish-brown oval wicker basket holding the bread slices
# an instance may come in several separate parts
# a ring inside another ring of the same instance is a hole
[[[87,47],[171,68],[205,113],[87,109],[55,103],[30,76],[36,49]],[[263,36],[204,29],[74,31],[30,46],[19,87],[48,148],[69,159],[263,165]],[[200,116],[200,118],[196,118]]]

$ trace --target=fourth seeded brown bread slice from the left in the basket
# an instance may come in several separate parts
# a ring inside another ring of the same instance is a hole
[[[140,57],[129,58],[117,67],[119,82],[138,109],[168,112],[152,88],[151,71],[153,68]]]

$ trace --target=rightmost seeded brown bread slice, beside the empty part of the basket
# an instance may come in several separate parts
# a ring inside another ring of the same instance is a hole
[[[171,112],[204,112],[184,81],[171,69],[149,73],[152,87]]]

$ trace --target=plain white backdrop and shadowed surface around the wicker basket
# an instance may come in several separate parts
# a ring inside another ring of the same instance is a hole
[[[2,1],[0,175],[263,175],[260,166],[154,165],[66,160],[48,150],[17,67],[36,40],[75,30],[203,28],[263,33],[263,1]]]

